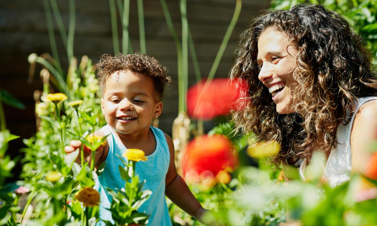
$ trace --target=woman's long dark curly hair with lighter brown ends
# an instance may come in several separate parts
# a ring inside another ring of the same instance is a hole
[[[258,38],[266,29],[284,32],[297,49],[293,73],[294,113],[280,115],[268,89],[258,79]],[[372,56],[361,38],[339,14],[320,5],[297,5],[289,11],[267,11],[241,35],[231,78],[248,81],[247,107],[233,121],[258,141],[276,140],[274,162],[291,165],[314,150],[336,147],[336,131],[356,110],[357,98],[377,95]]]

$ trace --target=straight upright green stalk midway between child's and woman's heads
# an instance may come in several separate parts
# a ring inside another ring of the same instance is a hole
[[[188,30],[189,24],[187,22],[187,9],[186,0],[181,0],[180,10],[181,10],[181,21],[182,21],[182,82],[179,84],[181,86],[181,94],[179,105],[181,110],[186,110],[187,104],[185,96],[188,89],[188,79],[189,79],[189,48],[188,48]]]

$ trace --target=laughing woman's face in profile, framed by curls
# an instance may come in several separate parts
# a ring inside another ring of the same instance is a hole
[[[292,81],[296,69],[296,53],[284,32],[267,28],[258,39],[258,78],[271,93],[280,114],[293,113]]]

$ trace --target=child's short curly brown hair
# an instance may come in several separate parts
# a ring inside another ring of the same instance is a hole
[[[150,76],[153,80],[156,101],[162,99],[166,83],[172,80],[167,75],[167,68],[161,65],[156,58],[141,54],[140,52],[128,55],[118,53],[115,56],[103,54],[97,63],[97,67],[98,85],[100,86],[101,95],[105,92],[107,78],[116,71],[130,70]]]

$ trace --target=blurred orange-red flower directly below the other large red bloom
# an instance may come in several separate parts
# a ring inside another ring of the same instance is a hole
[[[182,157],[182,173],[190,182],[208,177],[215,179],[221,172],[233,171],[236,165],[232,144],[222,135],[196,137],[187,145]]]

